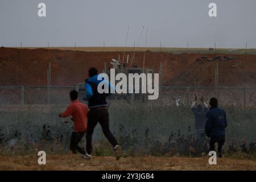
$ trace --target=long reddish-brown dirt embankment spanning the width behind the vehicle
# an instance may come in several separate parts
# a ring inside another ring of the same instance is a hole
[[[59,49],[18,49],[0,48],[0,85],[47,85],[48,63],[51,62],[52,85],[75,85],[87,77],[90,67],[99,71],[112,67],[112,58],[121,60],[123,52],[85,52]],[[131,57],[133,52],[125,53]],[[136,52],[133,63],[138,67],[143,65],[143,52]],[[220,55],[220,54],[218,54]],[[207,56],[218,56],[211,53]],[[145,67],[159,72],[160,62],[163,64],[163,82],[165,85],[201,85],[211,86],[214,83],[216,61],[199,60],[204,55],[200,53],[161,53],[146,52]],[[235,60],[220,61],[220,85],[240,86],[246,81],[247,85],[256,85],[256,55],[220,55],[236,57]],[[246,61],[245,61],[246,60]],[[246,72],[246,74],[245,74]],[[246,75],[246,76],[245,76]]]

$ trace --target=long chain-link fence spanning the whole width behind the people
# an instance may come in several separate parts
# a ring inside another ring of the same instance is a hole
[[[0,105],[67,105],[69,92],[79,91],[79,99],[84,97],[83,86],[0,86]],[[189,105],[195,94],[208,101],[210,97],[218,98],[221,105],[236,105],[243,108],[256,104],[256,88],[245,87],[210,87],[210,86],[162,86],[158,102],[171,105],[179,100],[181,105]],[[147,100],[143,94],[114,94],[112,100]]]

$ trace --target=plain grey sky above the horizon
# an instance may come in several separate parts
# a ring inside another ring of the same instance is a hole
[[[38,3],[47,16],[38,16]],[[217,3],[216,18],[208,16]],[[0,46],[256,48],[255,0],[0,0]]]

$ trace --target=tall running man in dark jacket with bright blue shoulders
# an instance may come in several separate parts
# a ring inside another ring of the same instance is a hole
[[[98,71],[96,68],[89,69],[89,78],[85,81],[85,101],[88,101],[89,113],[88,113],[88,125],[87,125],[87,132],[86,132],[86,155],[84,156],[85,159],[91,158],[92,152],[92,134],[94,127],[96,127],[97,123],[99,122],[102,131],[105,137],[109,140],[112,144],[116,159],[119,160],[121,157],[121,146],[119,146],[117,140],[109,130],[109,113],[108,113],[108,104],[106,102],[106,97],[109,96],[109,93],[99,93],[97,86],[100,82],[105,81],[103,78],[102,80],[98,80]],[[110,82],[108,82],[109,89],[115,89]]]

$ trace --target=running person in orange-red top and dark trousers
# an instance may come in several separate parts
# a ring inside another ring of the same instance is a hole
[[[60,113],[59,117],[65,118],[69,115],[72,115],[71,120],[74,123],[73,132],[71,135],[71,143],[70,143],[70,150],[73,154],[77,154],[77,151],[80,154],[85,155],[86,152],[83,148],[79,147],[79,142],[81,141],[82,137],[87,130],[87,113],[88,113],[88,106],[82,104],[77,100],[78,92],[76,90],[72,90],[69,93],[71,104],[68,106],[67,110],[64,113]]]

